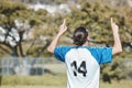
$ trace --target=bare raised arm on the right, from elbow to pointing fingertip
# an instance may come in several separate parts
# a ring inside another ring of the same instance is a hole
[[[119,26],[113,22],[112,18],[111,18],[111,29],[113,32],[113,40],[114,40],[112,47],[112,55],[116,55],[122,52],[122,45],[119,36]]]

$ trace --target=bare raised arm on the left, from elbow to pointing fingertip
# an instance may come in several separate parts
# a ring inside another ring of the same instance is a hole
[[[54,50],[57,45],[57,42],[59,41],[59,37],[67,31],[67,26],[66,26],[66,21],[64,20],[63,24],[59,26],[59,32],[57,33],[57,35],[55,36],[55,38],[52,41],[52,43],[50,44],[50,46],[47,47],[47,51],[50,53],[54,53]]]

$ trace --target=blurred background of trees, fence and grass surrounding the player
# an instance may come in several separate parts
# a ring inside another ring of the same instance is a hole
[[[132,88],[132,0],[0,0],[0,88],[66,88],[65,64],[46,48],[66,19],[58,45],[88,29],[89,46],[112,46],[110,18],[119,25],[123,52],[101,65],[100,87]]]

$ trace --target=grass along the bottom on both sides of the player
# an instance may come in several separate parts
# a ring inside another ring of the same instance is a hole
[[[3,76],[1,88],[35,88],[36,86],[37,88],[66,88],[66,74],[45,74],[43,76]],[[132,88],[132,80],[112,80],[112,84],[100,81],[100,88]]]

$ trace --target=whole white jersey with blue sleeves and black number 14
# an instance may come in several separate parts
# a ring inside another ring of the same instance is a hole
[[[112,48],[58,46],[54,55],[66,65],[67,88],[99,88],[100,64],[112,61]]]

